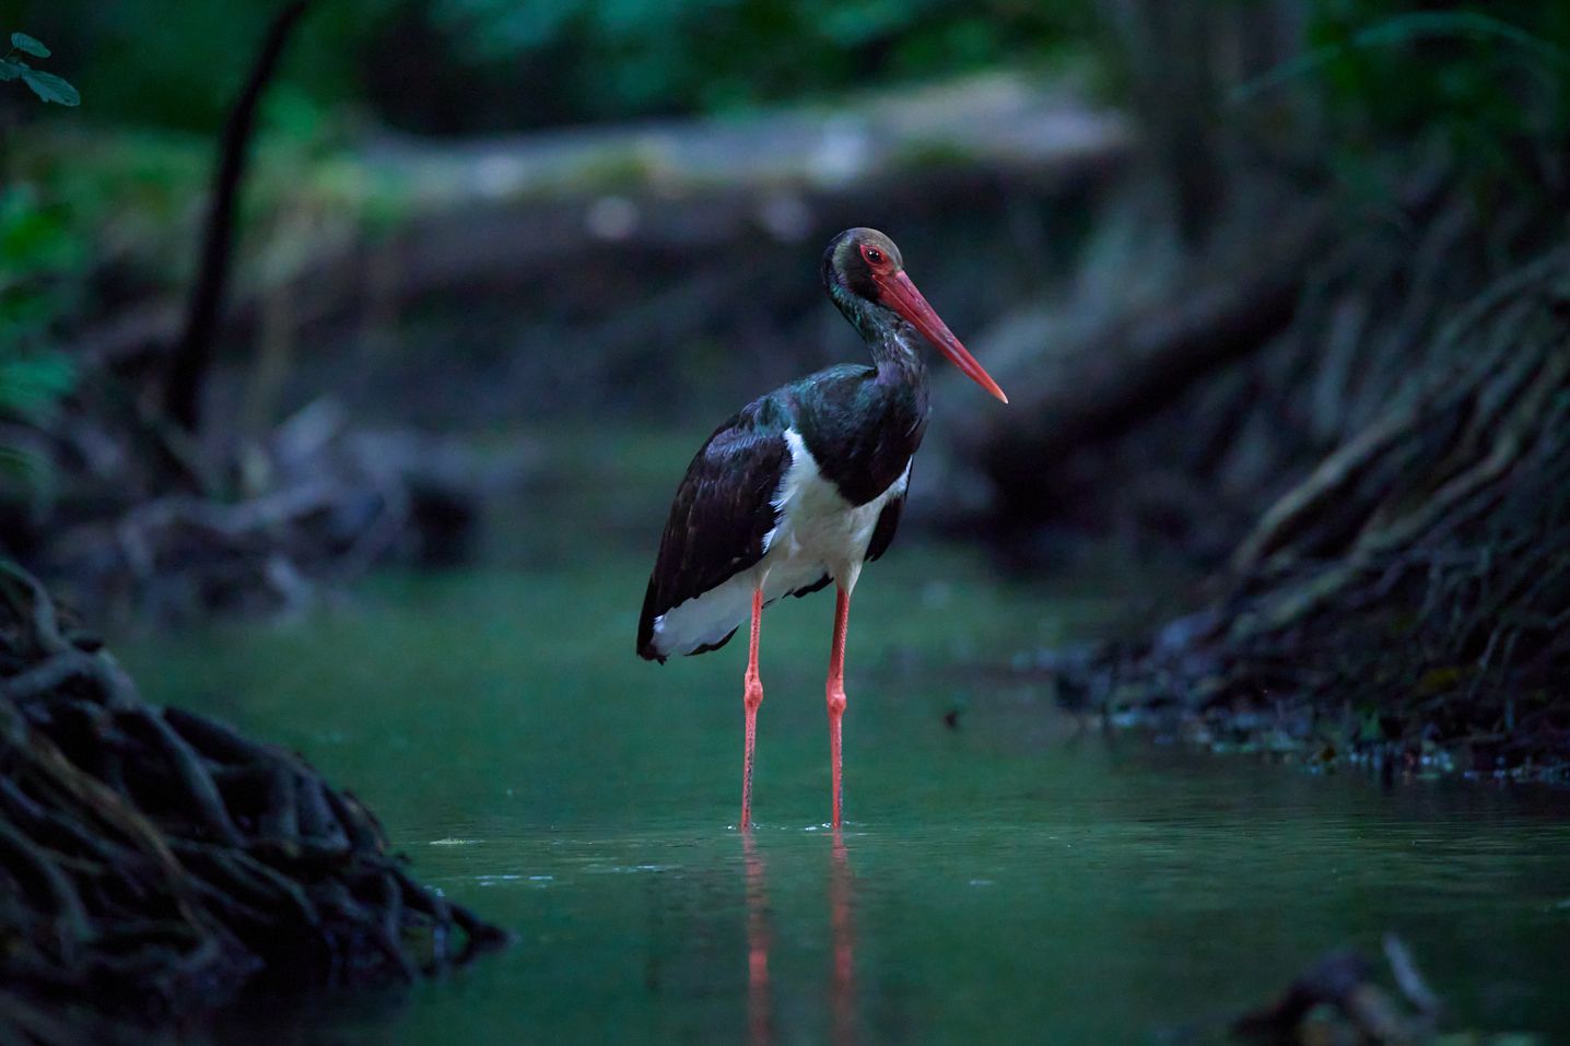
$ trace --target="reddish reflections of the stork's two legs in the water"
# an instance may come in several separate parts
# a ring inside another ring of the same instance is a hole
[[[741,837],[747,873],[747,1032],[752,1046],[774,1041],[774,997],[769,986],[769,950],[774,927],[769,913],[768,862],[752,834]],[[829,848],[829,1019],[838,1046],[856,1043],[856,889],[845,837],[835,831]]]

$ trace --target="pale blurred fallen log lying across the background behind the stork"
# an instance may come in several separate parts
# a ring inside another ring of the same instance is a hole
[[[1016,75],[739,119],[430,143],[383,133],[336,160],[347,195],[323,206],[311,250],[242,267],[220,338],[245,341],[270,295],[298,322],[355,316],[372,295],[518,286],[630,251],[702,256],[765,237],[810,242],[868,210],[964,207],[999,185],[1069,195],[1121,171],[1129,121]],[[367,229],[363,215],[396,215]],[[835,225],[838,223],[838,225]],[[824,226],[827,228],[824,231]],[[80,331],[89,368],[148,364],[176,344],[181,309],[152,302]]]

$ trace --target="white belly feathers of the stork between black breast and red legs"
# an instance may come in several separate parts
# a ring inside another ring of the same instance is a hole
[[[752,592],[763,583],[763,602],[816,583],[829,575],[846,592],[856,587],[873,539],[878,517],[890,498],[904,493],[911,463],[887,490],[867,504],[853,506],[818,471],[807,443],[794,429],[785,430],[790,468],[774,492],[779,512],[774,529],[763,539],[763,559],[722,584],[672,606],[655,619],[655,647],[664,653],[691,653],[719,642],[752,614]]]

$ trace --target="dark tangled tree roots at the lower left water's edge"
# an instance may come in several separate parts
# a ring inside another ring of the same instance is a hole
[[[160,1022],[253,978],[407,982],[506,934],[414,883],[298,755],[144,704],[0,564],[0,1041]]]

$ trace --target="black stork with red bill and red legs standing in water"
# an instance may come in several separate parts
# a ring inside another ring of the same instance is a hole
[[[763,608],[834,581],[829,647],[829,765],[840,826],[845,627],[862,565],[893,540],[926,432],[929,396],[917,335],[1005,404],[1008,397],[937,317],[900,248],[876,229],[846,229],[823,253],[823,286],[867,341],[874,366],[842,363],[743,407],[688,466],[648,576],[639,656],[716,650],[752,614],[743,707],[741,829],[752,823],[752,748],[763,683]]]

